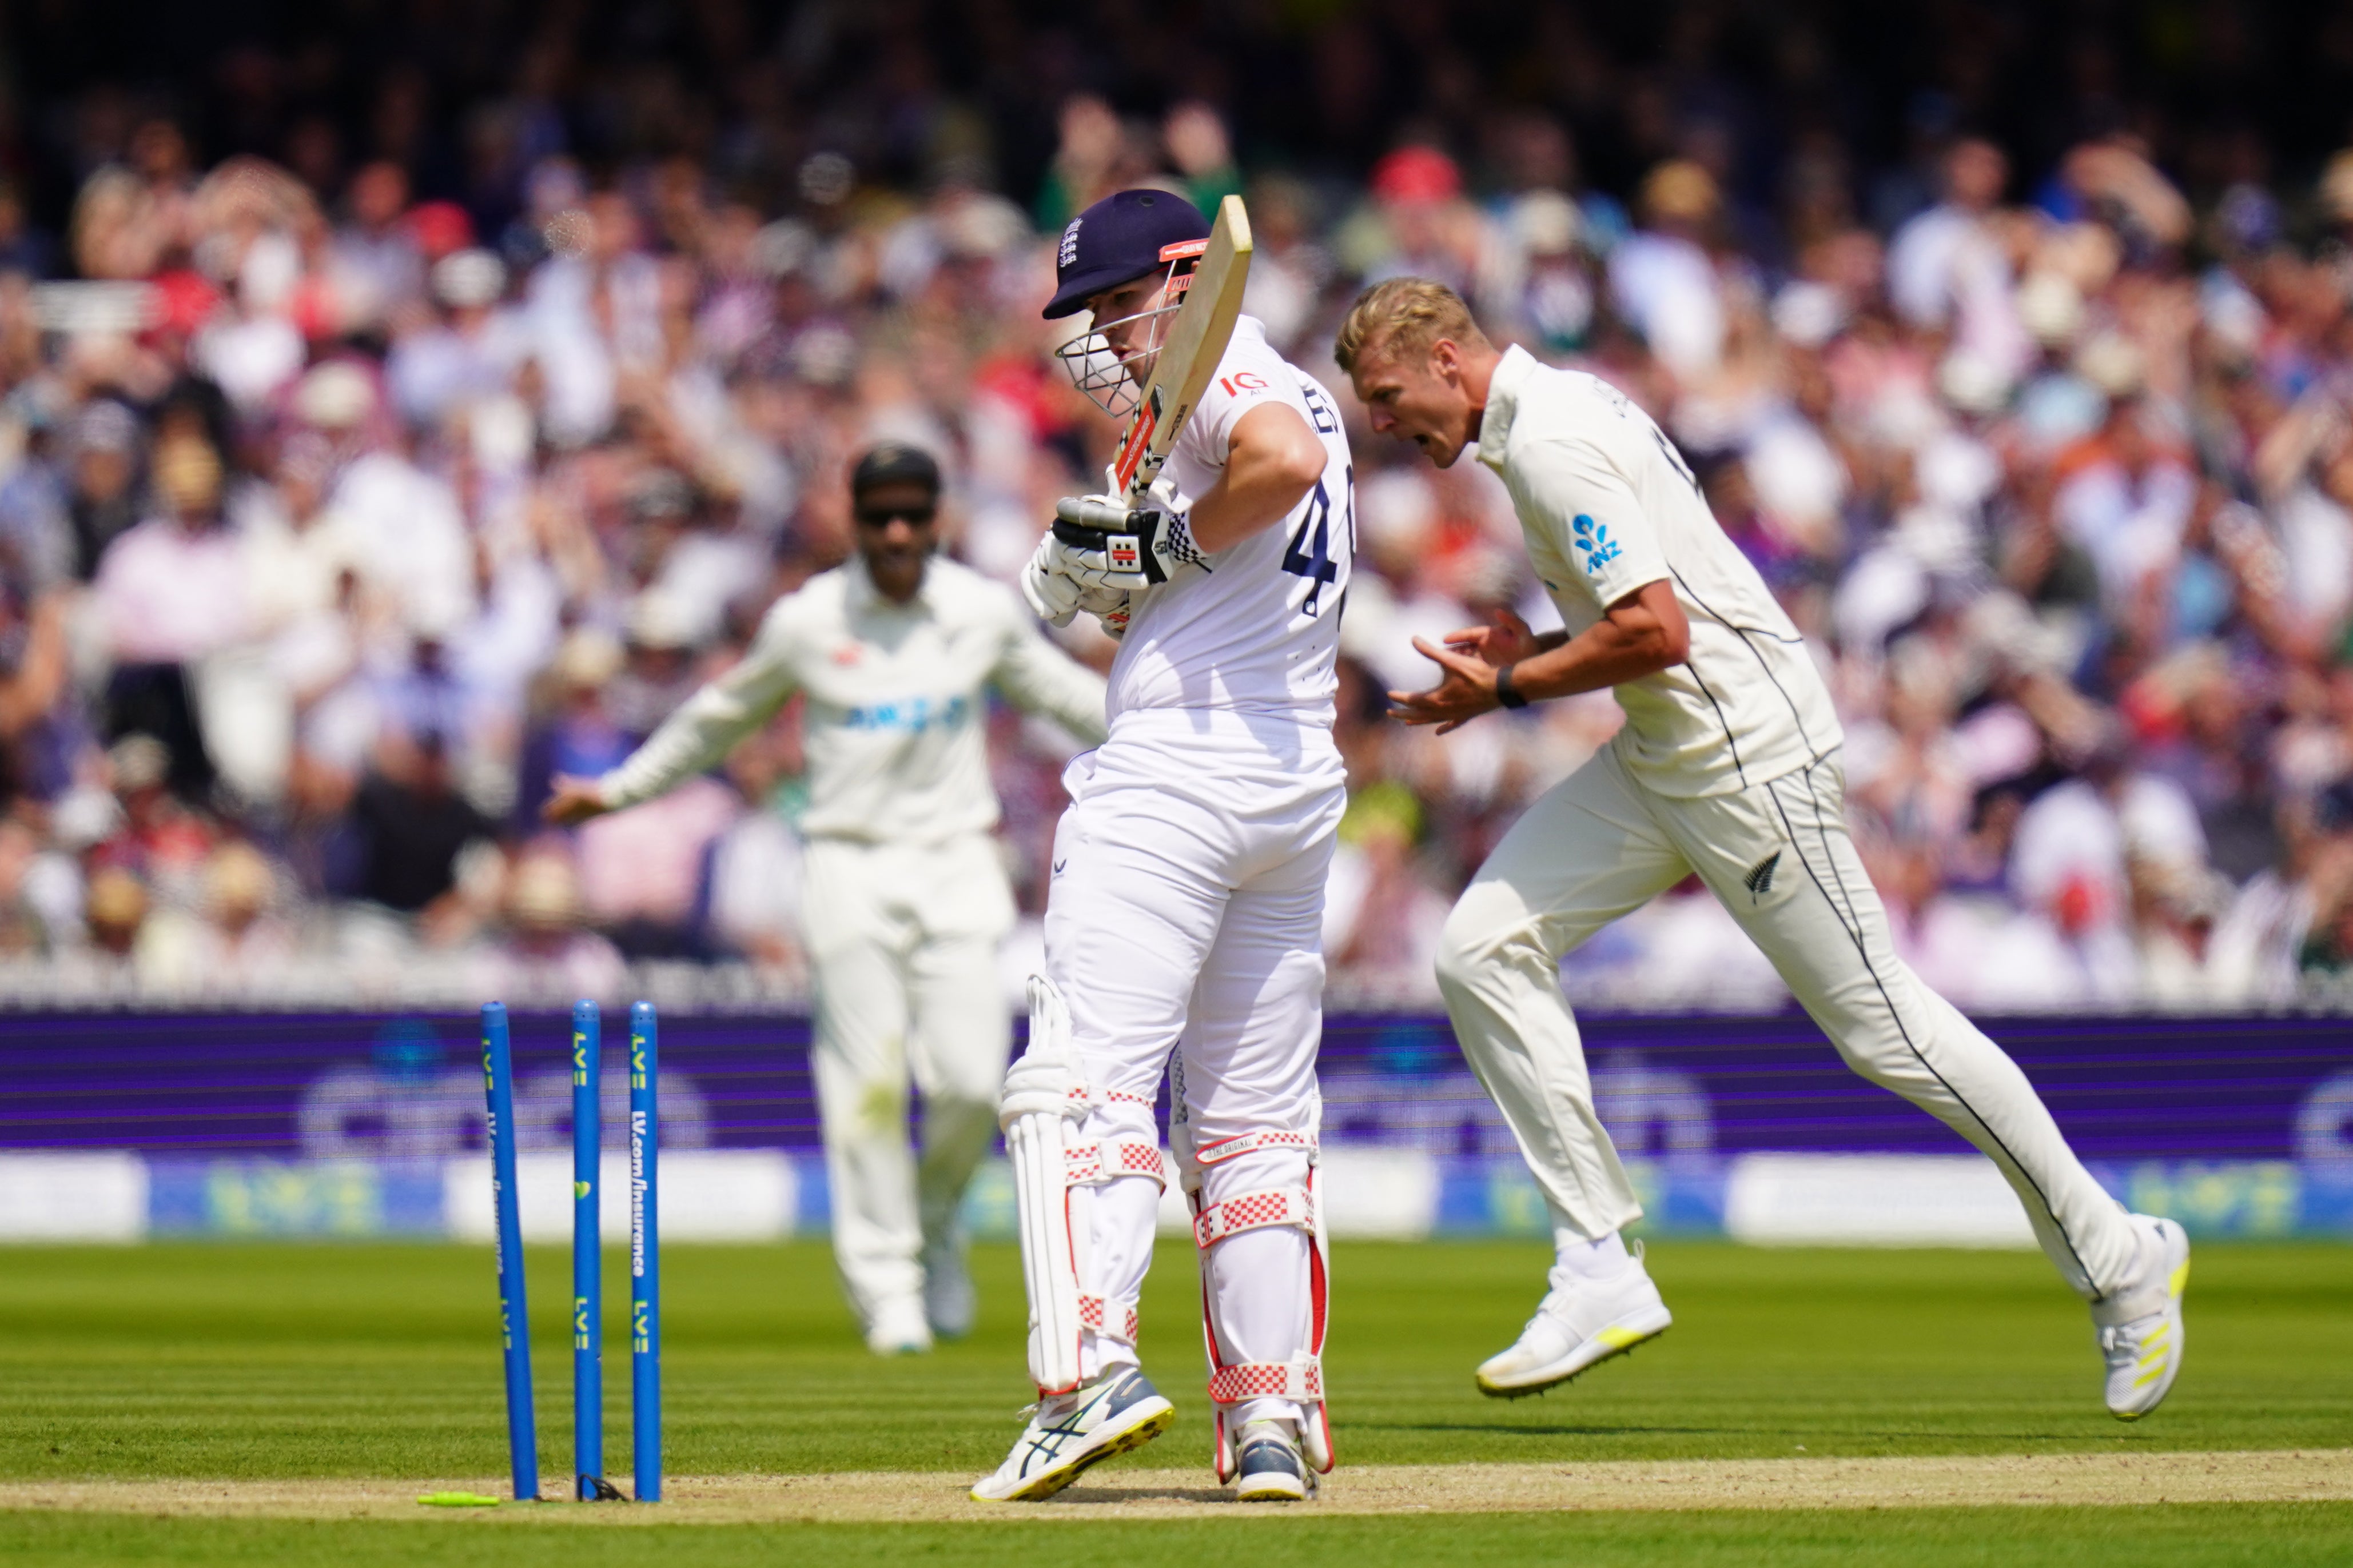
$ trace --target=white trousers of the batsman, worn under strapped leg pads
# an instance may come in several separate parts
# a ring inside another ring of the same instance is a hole
[[[1231,710],[1127,712],[1066,773],[1054,837],[1045,966],[1071,1006],[1071,1041],[1096,1091],[1085,1140],[1158,1143],[1153,1095],[1169,1072],[1169,1147],[1202,1204],[1304,1187],[1301,1145],[1198,1166],[1193,1152],[1254,1131],[1315,1135],[1322,1037],[1322,896],[1346,776],[1332,731]],[[1176,1053],[1174,1070],[1169,1053]],[[1129,1305],[1153,1260],[1160,1187],[1096,1190],[1080,1291]],[[1266,1227],[1200,1258],[1221,1359],[1315,1349],[1311,1237]],[[1179,1328],[1179,1342],[1191,1326]],[[1134,1363],[1125,1312],[1080,1347],[1087,1378]],[[1231,1429],[1301,1420],[1297,1401],[1238,1403]]]

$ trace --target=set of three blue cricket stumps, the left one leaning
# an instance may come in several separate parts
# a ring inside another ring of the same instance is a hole
[[[572,1009],[572,1495],[614,1502],[605,1479],[605,1253],[598,1086],[602,1018]],[[515,1063],[504,1001],[482,1006],[489,1197],[496,1218],[499,1340],[506,1352],[506,1450],[518,1502],[539,1500],[529,1305],[522,1288],[522,1206],[515,1190]],[[628,1011],[628,1361],[631,1467],[638,1502],[661,1502],[661,1039],[652,1001]]]

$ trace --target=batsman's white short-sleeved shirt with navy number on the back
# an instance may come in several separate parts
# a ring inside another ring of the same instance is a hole
[[[1308,421],[1325,473],[1289,517],[1141,595],[1111,665],[1111,719],[1151,708],[1221,708],[1332,724],[1339,689],[1339,611],[1355,559],[1355,468],[1339,404],[1240,317],[1217,378],[1162,470],[1186,498],[1226,473],[1233,425],[1266,402]]]

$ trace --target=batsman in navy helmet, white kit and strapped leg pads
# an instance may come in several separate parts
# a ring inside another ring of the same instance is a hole
[[[1045,315],[1092,315],[1066,364],[1113,416],[1151,383],[1209,235],[1165,190],[1122,190],[1064,230]],[[1315,1044],[1353,473],[1332,395],[1259,322],[1240,317],[1214,369],[1151,498],[1066,498],[1024,576],[1042,616],[1087,609],[1125,637],[1111,738],[1064,776],[1047,973],[1005,1079],[1038,1406],[972,1488],[984,1502],[1049,1497],[1174,1420],[1136,1359],[1162,1072],[1217,1476],[1287,1500],[1332,1467]]]

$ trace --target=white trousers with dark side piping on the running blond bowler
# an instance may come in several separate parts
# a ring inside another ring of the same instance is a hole
[[[1457,900],[1438,985],[1558,1222],[1602,1239],[1642,1215],[1593,1114],[1560,957],[1692,872],[1849,1067],[2000,1166],[2078,1293],[2097,1300],[2125,1284],[2137,1248],[2125,1208],[2068,1150],[2017,1063],[1897,959],[1847,837],[1835,755],[1682,799],[1647,790],[1602,748],[1529,806]]]

